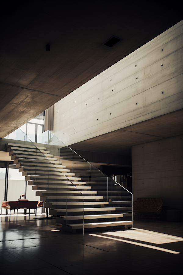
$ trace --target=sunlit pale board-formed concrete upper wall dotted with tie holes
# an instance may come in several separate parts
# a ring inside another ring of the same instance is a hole
[[[71,145],[183,108],[182,45],[183,21],[57,102],[53,134]]]

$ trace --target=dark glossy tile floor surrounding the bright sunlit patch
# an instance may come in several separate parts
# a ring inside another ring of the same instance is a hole
[[[96,235],[103,232],[71,234],[62,231],[55,219],[35,220],[34,216],[0,215],[0,274],[37,275],[112,275],[112,274],[174,274],[183,262],[183,242],[150,244],[181,252],[172,254]],[[134,228],[183,237],[182,222],[134,221]],[[115,231],[113,229],[112,231]],[[113,237],[113,236],[112,236]],[[125,240],[125,238],[124,238]],[[129,239],[126,239],[129,240]]]

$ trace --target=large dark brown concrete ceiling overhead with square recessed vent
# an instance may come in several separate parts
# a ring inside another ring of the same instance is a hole
[[[181,2],[5,2],[0,137],[183,19]],[[113,49],[102,45],[123,39]],[[50,51],[46,51],[46,44]]]

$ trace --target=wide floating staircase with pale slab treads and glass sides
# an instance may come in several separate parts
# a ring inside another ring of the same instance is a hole
[[[56,222],[62,224],[62,230],[75,233],[83,229],[83,224],[86,230],[132,226],[132,194],[114,181],[114,191],[112,187],[106,190],[106,175],[96,168],[71,173],[63,162],[73,156],[74,161],[81,158],[67,146],[59,149],[58,156],[44,145],[36,147],[31,142],[8,143],[6,147],[16,168],[39,200],[45,202],[49,215],[56,216]]]

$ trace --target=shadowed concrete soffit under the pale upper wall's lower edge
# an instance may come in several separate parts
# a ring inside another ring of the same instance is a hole
[[[183,109],[69,145],[73,150],[131,156],[131,146],[183,135]]]

